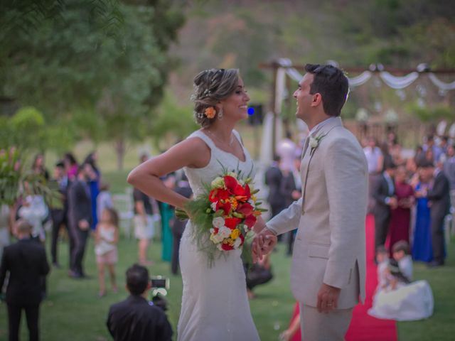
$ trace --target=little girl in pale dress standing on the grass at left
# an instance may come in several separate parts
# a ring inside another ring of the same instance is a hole
[[[117,263],[117,242],[119,242],[119,216],[113,208],[105,208],[95,231],[95,254],[97,255],[99,296],[105,296],[105,265],[109,269],[112,291],[117,293],[114,265]]]

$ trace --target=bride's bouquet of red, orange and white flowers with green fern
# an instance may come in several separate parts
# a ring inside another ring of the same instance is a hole
[[[198,249],[208,252],[213,260],[215,251],[240,249],[257,217],[266,211],[252,188],[252,179],[241,178],[241,172],[227,172],[215,178],[205,191],[186,205],[194,225]],[[183,210],[176,214],[188,218]]]

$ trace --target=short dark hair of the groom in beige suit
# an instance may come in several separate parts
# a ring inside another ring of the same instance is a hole
[[[348,99],[348,77],[333,65],[306,64],[305,71],[314,75],[310,94],[321,94],[326,114],[340,116],[341,108]]]

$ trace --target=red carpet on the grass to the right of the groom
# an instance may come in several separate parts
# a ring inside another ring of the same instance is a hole
[[[367,313],[368,309],[371,308],[373,294],[378,285],[374,262],[375,221],[372,215],[368,215],[366,220],[366,242],[367,283],[365,304],[359,304],[354,308],[353,320],[346,334],[346,341],[396,341],[397,325],[394,320],[379,320]]]

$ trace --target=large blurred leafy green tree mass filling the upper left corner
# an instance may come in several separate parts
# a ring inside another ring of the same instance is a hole
[[[53,127],[114,141],[121,168],[126,141],[144,136],[163,96],[181,8],[165,0],[33,3],[13,1],[0,16],[0,97],[36,107]]]

